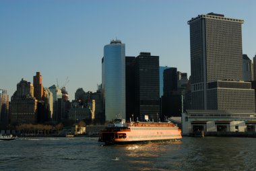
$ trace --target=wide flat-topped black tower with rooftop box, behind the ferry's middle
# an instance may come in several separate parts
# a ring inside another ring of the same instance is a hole
[[[143,121],[145,116],[158,121],[159,100],[159,57],[140,53],[135,59],[135,117]]]

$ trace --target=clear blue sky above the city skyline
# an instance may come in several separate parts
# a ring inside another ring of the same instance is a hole
[[[160,66],[190,75],[187,21],[210,12],[245,20],[243,54],[256,54],[254,0],[0,0],[0,89],[9,98],[22,78],[43,86],[96,92],[104,45],[125,43],[126,56],[150,52]],[[69,82],[65,85],[66,80]]]

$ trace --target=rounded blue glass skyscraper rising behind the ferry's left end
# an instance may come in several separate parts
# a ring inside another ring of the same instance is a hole
[[[102,93],[106,121],[125,114],[125,44],[111,40],[104,46],[102,58]]]

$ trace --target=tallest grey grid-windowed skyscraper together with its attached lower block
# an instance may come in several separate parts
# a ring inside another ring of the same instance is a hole
[[[193,109],[253,110],[254,90],[250,83],[239,81],[243,22],[217,13],[189,20]]]

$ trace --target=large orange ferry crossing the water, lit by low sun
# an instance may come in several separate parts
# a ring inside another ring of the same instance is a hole
[[[100,131],[99,141],[108,145],[145,143],[147,141],[179,141],[181,129],[173,123],[129,122],[115,119]]]

